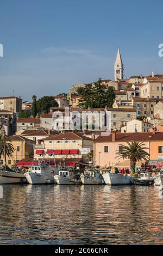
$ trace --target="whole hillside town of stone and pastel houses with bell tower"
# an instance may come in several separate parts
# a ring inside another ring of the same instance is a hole
[[[21,96],[0,97],[1,132],[14,147],[6,157],[7,166],[28,168],[32,162],[43,158],[53,162],[55,157],[60,166],[91,165],[115,172],[130,168],[128,159],[117,160],[116,151],[131,141],[145,144],[149,154],[149,160],[137,161],[136,168],[159,166],[163,161],[163,74],[152,71],[129,78],[123,74],[118,49],[114,81],[80,82],[69,92],[39,100],[35,95],[29,101]],[[103,136],[107,113],[110,132]],[[4,163],[1,155],[1,166]]]

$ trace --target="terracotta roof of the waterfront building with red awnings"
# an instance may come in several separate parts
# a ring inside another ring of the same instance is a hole
[[[42,141],[55,141],[55,140],[62,140],[63,138],[68,139],[89,139],[92,141],[91,138],[86,137],[82,135],[80,132],[66,132],[66,133],[60,133],[58,135],[50,135],[47,138],[41,139]]]

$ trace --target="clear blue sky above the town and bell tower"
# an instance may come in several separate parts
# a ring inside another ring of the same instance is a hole
[[[1,0],[1,96],[57,95],[72,84],[163,73],[162,0]]]

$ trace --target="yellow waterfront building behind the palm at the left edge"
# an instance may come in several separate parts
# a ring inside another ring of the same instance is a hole
[[[7,165],[11,167],[15,161],[29,159],[34,156],[34,141],[20,135],[9,136],[8,139],[14,147],[14,153],[11,157],[7,156]],[[4,164],[4,157],[1,156],[1,164]]]

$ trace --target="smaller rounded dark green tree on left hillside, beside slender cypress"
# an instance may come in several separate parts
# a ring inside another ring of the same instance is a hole
[[[53,96],[43,96],[37,100],[37,112],[39,114],[49,113],[51,107],[58,107],[58,103]]]

